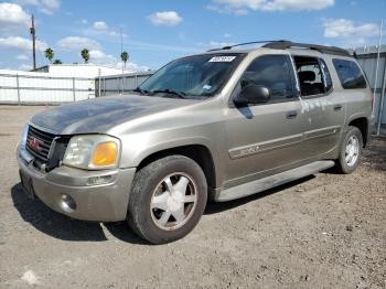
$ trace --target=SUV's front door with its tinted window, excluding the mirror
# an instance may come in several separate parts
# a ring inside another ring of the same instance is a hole
[[[243,74],[233,96],[254,82],[271,92],[267,104],[226,111],[228,165],[224,188],[280,171],[302,159],[301,103],[289,55],[262,55]]]

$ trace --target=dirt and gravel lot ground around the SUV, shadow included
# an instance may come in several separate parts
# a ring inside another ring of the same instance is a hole
[[[0,288],[386,288],[386,140],[351,175],[210,204],[187,237],[151,246],[26,199],[14,150],[42,109],[0,106]]]

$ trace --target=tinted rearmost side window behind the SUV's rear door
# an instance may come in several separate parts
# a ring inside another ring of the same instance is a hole
[[[367,87],[365,76],[355,62],[335,58],[332,63],[344,89]]]

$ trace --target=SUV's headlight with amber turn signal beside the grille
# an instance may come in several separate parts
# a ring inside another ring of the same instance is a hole
[[[63,163],[79,169],[99,170],[118,165],[120,141],[110,136],[72,137]]]

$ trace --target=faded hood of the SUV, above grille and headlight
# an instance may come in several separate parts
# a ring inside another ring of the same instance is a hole
[[[55,135],[106,132],[129,120],[186,106],[194,100],[156,96],[108,96],[44,110],[30,120]]]

